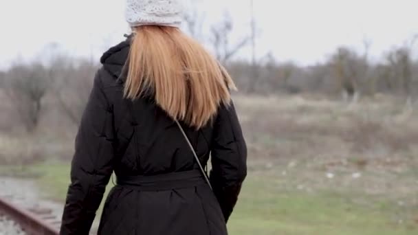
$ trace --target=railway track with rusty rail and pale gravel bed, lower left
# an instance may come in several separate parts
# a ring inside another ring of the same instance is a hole
[[[64,206],[47,196],[34,181],[0,176],[0,235],[58,234]]]

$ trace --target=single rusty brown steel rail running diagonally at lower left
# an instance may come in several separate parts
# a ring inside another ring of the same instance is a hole
[[[16,205],[0,198],[0,214],[10,216],[29,235],[58,235],[58,230],[52,225],[45,223],[36,214],[23,210]]]

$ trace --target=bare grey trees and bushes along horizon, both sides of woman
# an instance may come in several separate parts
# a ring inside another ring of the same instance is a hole
[[[212,48],[214,56],[228,68],[242,93],[321,93],[332,98],[342,96],[351,102],[386,93],[404,98],[407,105],[416,103],[418,61],[412,52],[417,36],[389,49],[378,61],[371,61],[371,43],[364,41],[362,52],[340,47],[324,63],[303,67],[292,61],[278,63],[272,54],[257,60],[254,19],[251,32],[235,42],[230,41],[231,35],[236,33],[228,13],[221,21],[210,25],[210,35],[204,37],[201,36],[203,18],[199,18],[197,11],[190,10],[184,20],[188,33]],[[236,59],[236,54],[248,45],[253,48],[252,60]],[[0,91],[12,102],[28,132],[39,124],[47,97],[77,125],[100,66],[96,61],[70,58],[65,54],[53,57],[50,63],[15,63],[7,71],[0,71]]]

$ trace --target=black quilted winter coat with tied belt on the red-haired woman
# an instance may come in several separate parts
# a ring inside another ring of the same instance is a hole
[[[113,171],[118,185],[104,204],[98,234],[227,234],[247,173],[233,104],[219,107],[214,122],[199,131],[182,124],[203,166],[211,155],[213,193],[179,128],[151,96],[123,98],[129,46],[128,38],[101,58],[76,137],[61,234],[89,234]]]

